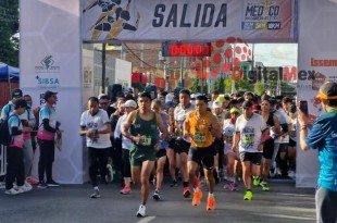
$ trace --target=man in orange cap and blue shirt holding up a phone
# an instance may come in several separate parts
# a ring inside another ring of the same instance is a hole
[[[337,222],[337,84],[327,82],[320,88],[322,113],[308,131],[312,115],[298,111],[302,150],[317,149],[320,174],[315,196],[319,223]],[[308,133],[309,132],[309,133]]]

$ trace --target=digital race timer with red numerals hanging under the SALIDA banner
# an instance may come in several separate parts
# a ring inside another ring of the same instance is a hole
[[[210,57],[212,53],[211,42],[176,42],[162,44],[163,57]]]

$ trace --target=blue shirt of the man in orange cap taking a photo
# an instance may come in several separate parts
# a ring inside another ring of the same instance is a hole
[[[337,112],[321,114],[305,143],[319,149],[320,175],[317,184],[337,191]]]

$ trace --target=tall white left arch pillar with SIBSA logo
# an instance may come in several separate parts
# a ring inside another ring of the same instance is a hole
[[[55,149],[53,177],[62,184],[82,184],[86,151],[78,136],[83,108],[80,0],[21,1],[20,14],[20,88],[32,96],[33,108],[45,103],[47,90],[58,92],[54,108],[63,145],[61,151]],[[39,149],[32,170],[35,177],[38,161]]]

